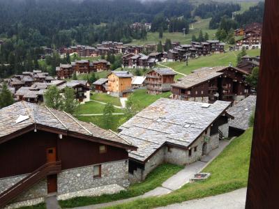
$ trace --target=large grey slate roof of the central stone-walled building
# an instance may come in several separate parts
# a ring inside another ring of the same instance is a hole
[[[161,98],[121,125],[119,135],[137,146],[129,157],[144,162],[165,142],[188,148],[230,102],[216,101],[208,108],[202,102]]]

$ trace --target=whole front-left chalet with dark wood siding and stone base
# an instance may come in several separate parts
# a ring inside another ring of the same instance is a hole
[[[128,186],[128,150],[118,134],[29,102],[0,109],[0,207],[98,196]],[[7,205],[8,204],[8,205]]]

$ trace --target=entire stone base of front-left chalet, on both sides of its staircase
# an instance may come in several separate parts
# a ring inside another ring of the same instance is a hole
[[[99,196],[120,192],[130,185],[128,180],[128,160],[101,164],[101,177],[93,178],[93,166],[63,170],[57,174],[57,194],[59,199],[75,196]],[[19,182],[28,174],[0,179],[0,192]],[[23,192],[6,208],[31,206],[44,201],[47,196],[47,179],[44,178]]]

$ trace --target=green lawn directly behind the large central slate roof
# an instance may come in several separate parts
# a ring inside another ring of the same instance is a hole
[[[158,95],[151,95],[146,93],[146,89],[138,89],[132,95],[136,100],[140,101],[140,109],[144,109],[160,98],[169,98],[170,92],[165,92]]]

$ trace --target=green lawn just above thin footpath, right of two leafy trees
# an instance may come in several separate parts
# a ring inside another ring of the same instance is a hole
[[[105,104],[100,104],[99,102],[85,102],[85,104],[80,104],[75,114],[103,114],[104,107]],[[114,108],[114,113],[121,112],[123,112],[123,109]]]

